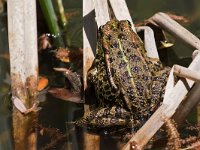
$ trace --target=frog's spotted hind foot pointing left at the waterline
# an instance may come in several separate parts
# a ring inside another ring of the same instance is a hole
[[[131,113],[123,108],[113,106],[111,108],[97,108],[75,122],[78,126],[105,128],[111,126],[123,126],[127,124]]]

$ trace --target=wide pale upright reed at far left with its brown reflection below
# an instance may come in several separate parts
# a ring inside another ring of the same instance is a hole
[[[26,108],[36,101],[38,80],[35,0],[9,0],[8,36],[12,96]],[[14,149],[36,150],[36,133],[31,131],[36,114],[23,115],[13,106]]]

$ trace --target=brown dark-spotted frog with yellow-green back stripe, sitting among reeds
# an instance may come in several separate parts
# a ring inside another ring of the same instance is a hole
[[[150,58],[128,20],[98,29],[97,50],[88,72],[98,106],[76,121],[93,128],[138,130],[161,105],[170,68]]]

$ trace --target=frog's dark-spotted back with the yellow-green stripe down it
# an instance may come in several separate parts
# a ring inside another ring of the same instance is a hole
[[[152,74],[146,62],[144,44],[132,31],[128,21],[119,22],[117,41],[119,50],[112,50],[112,52],[116,56],[116,60],[121,61],[118,62],[119,65],[116,68],[120,74],[118,78],[121,86],[131,99],[147,98]]]

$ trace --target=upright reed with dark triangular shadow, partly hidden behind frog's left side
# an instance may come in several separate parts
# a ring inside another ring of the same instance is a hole
[[[84,91],[87,87],[87,72],[94,60],[94,52],[96,49],[96,31],[97,26],[94,14],[94,1],[83,1],[83,81]],[[84,105],[85,113],[89,112],[89,106]],[[100,136],[84,132],[83,149],[99,150]]]

